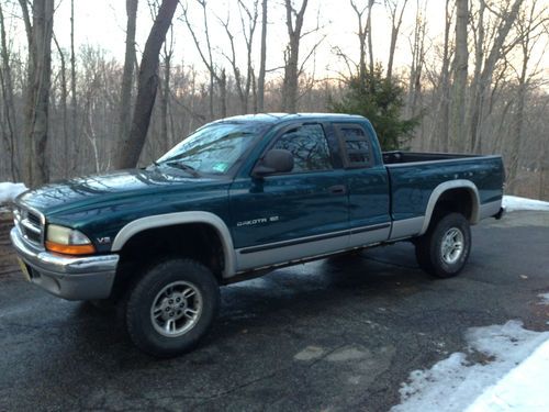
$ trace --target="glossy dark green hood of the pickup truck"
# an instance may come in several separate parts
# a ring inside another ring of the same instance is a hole
[[[18,202],[46,215],[60,214],[136,197],[198,188],[213,181],[219,182],[219,179],[191,177],[183,170],[169,167],[127,169],[46,185],[24,192]]]

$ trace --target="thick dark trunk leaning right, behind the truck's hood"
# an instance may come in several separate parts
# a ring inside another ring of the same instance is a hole
[[[130,136],[123,138],[121,142],[122,151],[116,164],[117,168],[135,167],[139,160],[158,90],[157,71],[160,47],[166,41],[166,33],[171,24],[177,4],[178,0],[163,0],[153,29],[145,43],[139,65],[137,98],[135,100],[132,127]]]

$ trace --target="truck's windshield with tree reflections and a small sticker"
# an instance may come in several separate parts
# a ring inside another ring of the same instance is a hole
[[[160,157],[158,165],[224,175],[266,129],[260,123],[215,123],[199,129]]]

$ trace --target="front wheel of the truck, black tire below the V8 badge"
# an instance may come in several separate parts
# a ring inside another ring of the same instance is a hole
[[[126,303],[130,337],[158,357],[188,352],[208,332],[220,290],[212,272],[190,259],[169,259],[147,270]]]

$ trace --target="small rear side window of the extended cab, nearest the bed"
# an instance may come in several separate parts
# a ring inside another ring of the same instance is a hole
[[[335,125],[346,167],[368,167],[372,163],[370,140],[362,127],[356,124]]]

